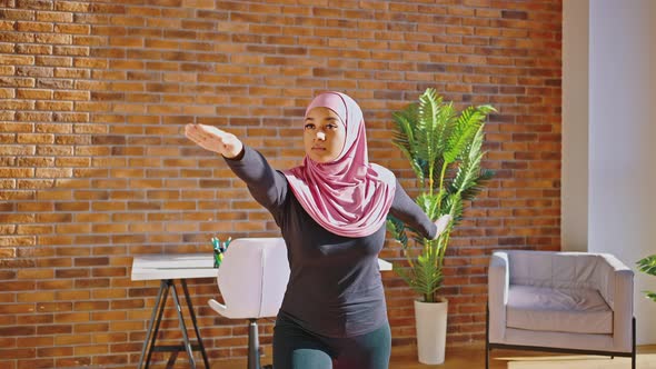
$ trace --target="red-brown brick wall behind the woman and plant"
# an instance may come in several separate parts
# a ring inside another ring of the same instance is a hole
[[[223,127],[286,168],[328,89],[360,103],[371,160],[410,191],[395,109],[427,87],[498,109],[497,177],[453,238],[444,289],[448,345],[483,340],[489,252],[559,248],[561,4],[436,2],[0,0],[0,367],[133,368],[158,287],[130,281],[133,255],[278,235],[182,126]],[[413,345],[413,293],[384,279],[394,345]],[[246,325],[206,305],[215,281],[190,288],[211,359],[243,356]],[[165,328],[179,340],[172,311]]]

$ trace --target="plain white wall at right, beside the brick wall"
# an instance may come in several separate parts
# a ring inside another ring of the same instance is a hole
[[[587,250],[614,253],[635,270],[638,259],[656,253],[656,122],[652,112],[656,107],[656,2],[586,0],[589,7],[586,20],[580,4],[573,4],[579,1],[564,3],[564,43],[573,39],[567,33],[579,32],[573,24],[589,22],[589,89],[587,106],[580,102],[569,110],[564,106],[563,177],[568,179],[569,187],[563,189],[563,245],[564,249],[579,249],[583,240],[569,227],[577,221],[573,218],[580,210],[578,200],[571,197],[582,193],[583,184],[577,179],[586,163],[576,161],[583,154],[571,140],[565,144],[565,136],[574,132],[574,139],[583,140],[580,124],[585,119],[583,110],[587,110]],[[569,19],[570,16],[580,22]],[[579,46],[585,48],[583,42]],[[576,64],[577,58],[582,58],[580,51],[564,48],[564,66],[568,66],[564,68],[564,78],[576,72],[569,67]],[[575,88],[582,82],[574,78],[573,83]],[[564,82],[564,89],[567,86]],[[565,195],[569,190],[575,195]],[[656,290],[655,279],[636,272],[634,305],[638,345],[656,343],[656,303],[640,292]]]

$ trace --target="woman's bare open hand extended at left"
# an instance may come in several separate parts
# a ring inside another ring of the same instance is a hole
[[[212,126],[187,124],[185,136],[201,148],[218,152],[228,159],[237,157],[243,148],[237,136]]]

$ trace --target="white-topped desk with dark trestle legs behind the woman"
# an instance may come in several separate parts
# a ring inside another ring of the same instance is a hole
[[[143,348],[141,349],[141,358],[139,359],[139,369],[143,365],[146,359],[146,368],[150,362],[150,356],[153,351],[187,351],[189,357],[189,363],[192,369],[196,368],[196,361],[193,359],[192,351],[200,351],[205,367],[209,368],[207,360],[207,353],[205,352],[205,346],[200,339],[200,332],[196,323],[196,313],[193,312],[193,306],[189,297],[189,290],[187,289],[187,279],[189,278],[217,278],[218,269],[213,268],[213,255],[208,253],[169,253],[169,255],[141,255],[135,256],[132,259],[132,280],[159,280],[159,292],[157,293],[157,300],[152,308],[152,315],[150,322],[148,323],[148,332],[146,340],[143,341]],[[378,259],[378,268],[381,271],[391,270],[391,263],[382,259]],[[182,308],[180,306],[180,299],[173,280],[180,280],[185,298],[187,300],[187,308],[191,316],[191,322],[193,330],[196,331],[196,339],[198,345],[191,345],[187,335],[187,326],[182,318]],[[176,310],[178,312],[178,320],[180,323],[180,330],[182,331],[183,345],[182,346],[156,346],[157,332],[161,322],[163,308],[166,306],[167,296],[169,290],[173,295],[173,302],[176,303]]]

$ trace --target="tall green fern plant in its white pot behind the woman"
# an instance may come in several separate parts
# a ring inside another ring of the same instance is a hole
[[[436,221],[446,215],[449,223],[441,235],[429,240],[388,217],[387,228],[401,245],[407,266],[397,273],[420,297],[415,300],[419,361],[444,362],[448,301],[439,298],[444,260],[454,227],[463,219],[465,203],[474,199],[491,171],[481,169],[485,120],[496,111],[491,106],[456,111],[435,89],[427,89],[418,101],[394,113],[392,143],[401,150],[413,169],[419,190],[415,201]]]

